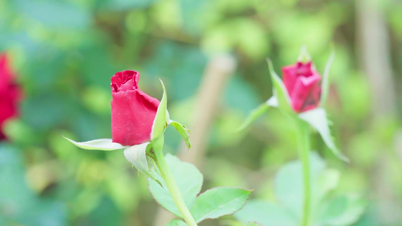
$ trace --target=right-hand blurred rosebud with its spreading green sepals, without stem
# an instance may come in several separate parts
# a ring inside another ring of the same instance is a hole
[[[267,59],[273,84],[273,96],[250,112],[239,131],[247,128],[270,107],[275,107],[294,119],[297,127],[299,125],[305,127],[306,123],[313,127],[334,155],[348,162],[349,159],[336,148],[323,107],[328,95],[329,71],[334,57],[335,53],[332,51],[321,76],[306,47],[302,47],[296,63],[281,68],[282,79],[275,72],[271,60]]]

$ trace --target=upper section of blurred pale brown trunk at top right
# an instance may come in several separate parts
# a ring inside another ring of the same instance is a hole
[[[358,0],[357,38],[360,63],[372,91],[372,111],[375,117],[396,113],[396,95],[390,63],[388,31],[384,16],[375,1]]]

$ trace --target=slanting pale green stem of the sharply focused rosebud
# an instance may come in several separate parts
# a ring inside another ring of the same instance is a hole
[[[191,216],[189,209],[187,208],[185,202],[183,201],[183,198],[180,195],[180,191],[178,190],[176,181],[174,180],[172,173],[170,173],[168,164],[166,163],[162,151],[163,141],[164,138],[162,135],[160,138],[158,138],[158,140],[154,141],[153,145],[155,156],[156,159],[158,160],[159,171],[161,173],[163,180],[166,183],[166,187],[168,187],[168,190],[170,192],[170,195],[172,196],[174,203],[176,204],[178,210],[180,211],[181,216],[183,216],[184,220],[189,226],[197,226],[197,223],[195,223],[193,216]]]

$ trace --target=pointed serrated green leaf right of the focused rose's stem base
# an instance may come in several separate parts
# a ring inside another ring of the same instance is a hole
[[[198,196],[190,212],[198,223],[207,218],[218,218],[240,210],[252,190],[235,187],[217,187]]]

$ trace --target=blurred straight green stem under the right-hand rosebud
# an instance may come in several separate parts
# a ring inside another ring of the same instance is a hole
[[[297,146],[299,149],[299,157],[303,168],[304,181],[304,206],[301,226],[310,224],[310,133],[309,127],[304,121],[297,123]]]

